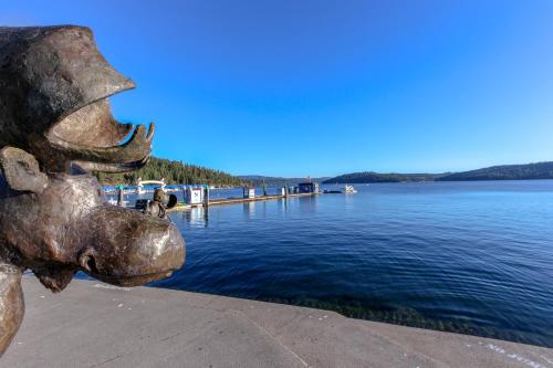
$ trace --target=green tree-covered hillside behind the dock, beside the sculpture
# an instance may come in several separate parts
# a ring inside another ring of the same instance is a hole
[[[146,166],[137,171],[126,174],[94,172],[94,175],[103,185],[134,185],[137,178],[143,180],[165,178],[167,183],[182,185],[208,183],[234,187],[243,183],[240,178],[223,171],[157,157],[150,157]]]

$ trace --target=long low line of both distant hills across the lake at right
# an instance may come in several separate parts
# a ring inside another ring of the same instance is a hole
[[[344,174],[324,183],[400,182],[400,181],[471,181],[553,179],[553,161],[525,165],[492,166],[478,170],[445,174]]]

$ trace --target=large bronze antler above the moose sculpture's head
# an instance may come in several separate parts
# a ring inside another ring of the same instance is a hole
[[[153,127],[118,124],[106,97],[135,84],[100,54],[87,28],[0,28],[0,147],[36,156],[45,171],[138,168]]]

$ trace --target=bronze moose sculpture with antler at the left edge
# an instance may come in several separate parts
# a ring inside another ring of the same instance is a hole
[[[106,99],[132,87],[87,28],[0,28],[0,356],[23,318],[24,270],[60,292],[80,270],[133,286],[184,264],[175,224],[108,204],[87,174],[146,162],[153,127],[125,141],[132,125]]]

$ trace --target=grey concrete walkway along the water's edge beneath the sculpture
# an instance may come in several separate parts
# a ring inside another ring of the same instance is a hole
[[[553,367],[553,349],[336,313],[24,277],[27,315],[0,367]]]

